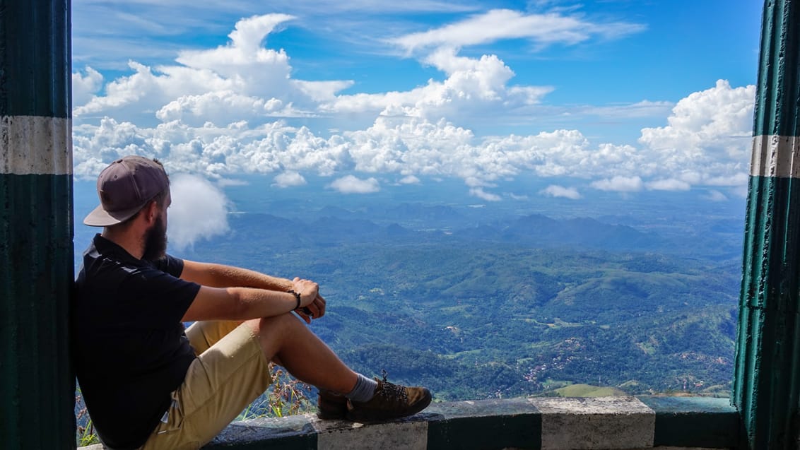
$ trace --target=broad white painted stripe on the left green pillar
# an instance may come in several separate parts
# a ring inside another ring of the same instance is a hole
[[[72,174],[72,119],[0,117],[0,174]]]

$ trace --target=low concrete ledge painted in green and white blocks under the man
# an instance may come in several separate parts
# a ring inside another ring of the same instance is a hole
[[[737,439],[738,412],[727,399],[531,397],[436,403],[416,416],[370,425],[311,414],[245,420],[203,448],[666,450],[735,448]]]

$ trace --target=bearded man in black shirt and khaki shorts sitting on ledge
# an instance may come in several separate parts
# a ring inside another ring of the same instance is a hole
[[[107,448],[201,447],[266,390],[270,361],[319,388],[323,419],[389,420],[430,404],[426,388],[353,372],[292,314],[325,314],[313,281],[167,255],[170,188],[158,161],[114,161],[98,197],[84,223],[104,228],[83,256],[72,336]]]

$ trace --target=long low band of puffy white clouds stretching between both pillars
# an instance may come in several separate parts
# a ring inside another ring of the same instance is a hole
[[[728,88],[723,84],[714,90]],[[750,96],[749,90],[742,88],[728,94]],[[721,95],[718,101],[724,103],[727,98],[730,96]],[[684,106],[690,103],[682,102]],[[751,113],[752,107],[748,111]],[[706,129],[712,128],[713,117],[706,122]],[[742,129],[729,131],[747,133],[744,129],[750,125],[742,121],[738,126]],[[170,169],[216,179],[242,172],[288,171],[298,173],[295,179],[305,171],[322,176],[398,173],[406,181],[414,180],[408,177],[457,177],[476,188],[532,173],[537,177],[594,177],[597,189],[623,191],[746,185],[749,138],[730,140],[730,149],[736,151],[712,157],[707,153],[718,148],[719,133],[714,133],[709,142],[696,141],[693,146],[682,147],[669,136],[688,135],[685,130],[670,125],[670,134],[667,128],[652,133],[654,129],[643,130],[649,133],[646,145],[637,148],[593,144],[574,129],[476,137],[470,129],[449,121],[400,115],[378,116],[366,129],[327,138],[282,120],[262,125],[237,121],[224,126],[210,122],[191,126],[175,120],[143,127],[106,117],[98,125],[74,128],[74,171],[78,177],[94,177],[107,161],[138,153],[162,157]],[[660,141],[659,136],[666,140]],[[287,181],[280,178],[276,183],[288,185]]]

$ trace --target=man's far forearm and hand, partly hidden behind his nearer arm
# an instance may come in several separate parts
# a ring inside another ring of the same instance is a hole
[[[270,277],[250,269],[188,260],[183,260],[181,278],[209,288],[257,288],[286,293],[294,286],[289,279]],[[296,313],[303,321],[311,323],[311,317],[318,319],[325,315],[326,301],[317,293],[314,301],[302,307],[307,310],[301,309]]]

